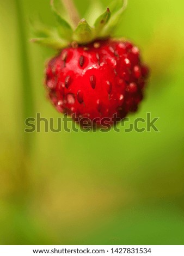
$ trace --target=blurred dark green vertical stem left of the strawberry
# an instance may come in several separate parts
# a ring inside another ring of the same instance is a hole
[[[22,126],[24,129],[24,121],[26,118],[34,117],[34,101],[33,101],[33,89],[32,81],[29,70],[29,58],[27,48],[27,37],[26,37],[26,22],[23,17],[21,0],[15,1],[16,13],[17,13],[17,34],[19,35],[19,52],[20,52],[20,65],[21,65],[21,80],[22,80],[22,100],[23,100],[23,114],[22,114]],[[23,150],[24,153],[29,154],[30,143],[32,136],[27,133],[23,135]]]

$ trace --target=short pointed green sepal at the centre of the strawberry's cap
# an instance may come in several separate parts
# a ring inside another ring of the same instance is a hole
[[[82,19],[73,32],[73,40],[77,41],[79,44],[85,44],[92,41],[93,38],[93,29],[88,25],[86,20]]]

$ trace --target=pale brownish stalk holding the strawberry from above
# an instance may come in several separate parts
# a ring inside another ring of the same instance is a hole
[[[76,27],[78,25],[78,22],[81,20],[80,16],[78,14],[77,8],[75,7],[75,4],[73,3],[73,0],[62,0],[63,5],[68,12],[71,21],[73,22],[73,25]]]

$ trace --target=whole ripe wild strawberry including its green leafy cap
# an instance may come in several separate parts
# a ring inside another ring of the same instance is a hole
[[[51,0],[51,7],[59,26],[39,26],[33,39],[59,52],[46,68],[45,84],[53,105],[60,113],[72,115],[81,126],[90,127],[109,127],[137,111],[148,68],[136,46],[111,37],[127,0],[122,4],[113,0],[93,26],[80,19],[75,8],[69,10],[73,21],[70,25],[54,2]]]

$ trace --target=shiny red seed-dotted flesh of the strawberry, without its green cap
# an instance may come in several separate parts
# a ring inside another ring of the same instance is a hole
[[[103,40],[65,48],[46,68],[46,89],[61,113],[94,120],[123,119],[143,99],[149,69],[128,41]],[[100,120],[100,121],[99,121]],[[110,122],[111,125],[116,120]]]

